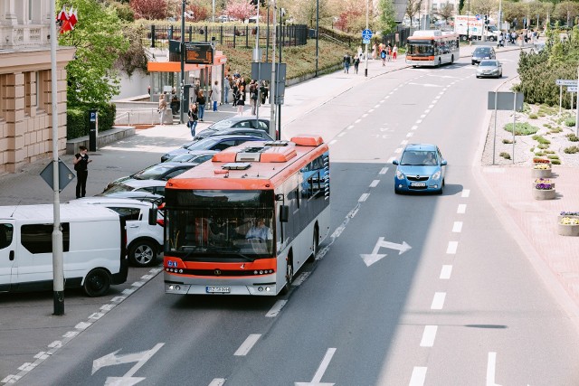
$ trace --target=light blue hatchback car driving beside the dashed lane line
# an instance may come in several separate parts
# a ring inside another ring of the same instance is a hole
[[[438,146],[409,144],[404,147],[394,175],[394,193],[430,192],[442,194],[446,160]]]

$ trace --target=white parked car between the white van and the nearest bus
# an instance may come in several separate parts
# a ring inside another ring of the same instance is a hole
[[[128,261],[137,267],[155,264],[157,255],[163,250],[163,215],[155,202],[105,196],[85,197],[71,203],[100,205],[118,212],[127,221]],[[153,212],[157,218],[149,221],[149,214]]]

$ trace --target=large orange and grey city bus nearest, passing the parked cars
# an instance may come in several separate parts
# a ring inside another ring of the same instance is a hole
[[[321,137],[230,147],[166,184],[165,292],[275,296],[329,232]],[[284,291],[285,292],[285,291]]]

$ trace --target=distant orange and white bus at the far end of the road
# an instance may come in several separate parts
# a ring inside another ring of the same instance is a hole
[[[459,35],[439,30],[414,31],[408,38],[406,63],[417,66],[441,66],[460,59]]]

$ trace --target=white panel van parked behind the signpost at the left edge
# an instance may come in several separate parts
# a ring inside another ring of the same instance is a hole
[[[100,297],[127,281],[125,220],[95,205],[61,204],[64,287]],[[0,206],[0,292],[52,289],[53,207]]]

